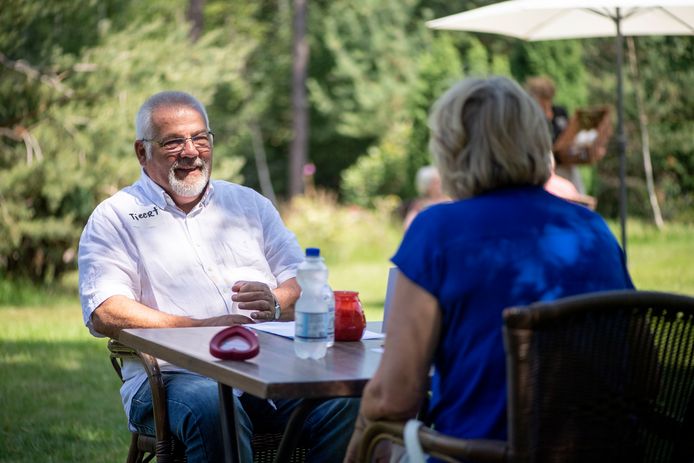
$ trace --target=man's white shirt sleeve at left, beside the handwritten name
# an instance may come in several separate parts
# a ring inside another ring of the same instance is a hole
[[[97,337],[91,316],[111,296],[137,299],[140,293],[138,265],[134,251],[115,217],[103,205],[89,218],[82,232],[78,252],[79,291],[82,317],[89,331]]]

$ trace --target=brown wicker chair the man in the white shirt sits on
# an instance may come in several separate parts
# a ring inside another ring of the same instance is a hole
[[[147,379],[152,388],[154,410],[155,436],[132,432],[127,463],[146,463],[156,458],[158,463],[185,462],[185,447],[169,431],[168,413],[166,410],[166,389],[159,371],[156,359],[144,352],[138,352],[115,339],[108,341],[111,364],[118,377],[123,381],[121,368],[123,359],[139,359],[147,372]],[[270,463],[275,461],[277,449],[282,439],[281,433],[256,434],[251,440],[254,463]],[[291,463],[301,463],[306,460],[308,447],[300,441],[291,455]]]

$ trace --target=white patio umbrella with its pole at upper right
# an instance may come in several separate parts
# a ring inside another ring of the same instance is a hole
[[[523,40],[615,37],[619,217],[626,253],[626,139],[623,37],[694,35],[694,0],[511,0],[427,22],[432,29],[509,35]]]

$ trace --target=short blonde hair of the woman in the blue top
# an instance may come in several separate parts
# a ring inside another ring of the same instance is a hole
[[[458,82],[434,103],[429,128],[429,149],[443,190],[454,198],[507,186],[542,186],[551,174],[547,120],[508,78]]]

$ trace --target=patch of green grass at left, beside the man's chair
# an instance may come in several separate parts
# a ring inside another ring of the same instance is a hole
[[[70,304],[0,308],[0,462],[123,462],[129,435],[105,340]]]

